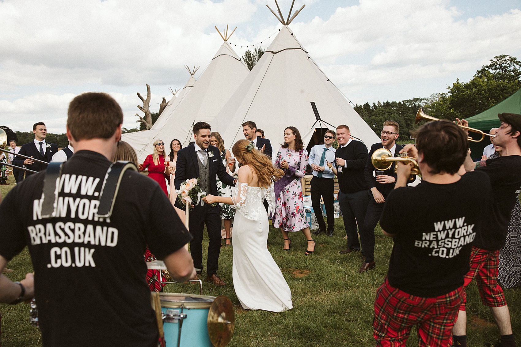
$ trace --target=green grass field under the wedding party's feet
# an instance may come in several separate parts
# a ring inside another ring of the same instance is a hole
[[[4,196],[6,187],[0,187]],[[332,238],[316,237],[315,253],[304,256],[305,237],[301,232],[290,234],[291,251],[282,251],[280,231],[271,228],[268,248],[291,288],[293,309],[283,313],[242,309],[233,291],[232,249],[221,249],[218,274],[225,287],[203,282],[203,294],[226,295],[235,307],[235,332],[229,346],[374,346],[373,305],[376,289],[387,273],[392,240],[384,237],[377,227],[375,261],[377,267],[359,274],[361,258],[341,255],[346,240],[342,219],[336,220]],[[203,249],[208,240],[205,239]],[[206,263],[204,259],[203,264]],[[20,280],[31,271],[27,249],[8,264],[14,272],[12,280]],[[195,284],[168,284],[167,292],[199,293]],[[505,291],[511,310],[516,340],[521,342],[521,291]],[[468,345],[482,346],[495,342],[499,332],[490,311],[481,304],[475,283],[467,288]],[[29,305],[0,305],[2,312],[2,346],[38,346],[40,333],[29,325]],[[416,346],[413,331],[407,346]]]

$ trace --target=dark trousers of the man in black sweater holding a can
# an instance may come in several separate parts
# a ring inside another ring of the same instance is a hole
[[[364,250],[364,236],[362,228],[364,226],[364,218],[369,203],[370,190],[364,189],[354,193],[338,192],[338,202],[342,217],[344,218],[345,233],[348,236],[348,247],[354,250]],[[360,241],[358,242],[358,228],[360,230]],[[362,254],[364,252],[362,251]]]

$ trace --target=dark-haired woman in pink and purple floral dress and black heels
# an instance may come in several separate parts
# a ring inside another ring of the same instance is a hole
[[[315,251],[315,241],[311,238],[309,225],[304,213],[302,200],[302,184],[300,179],[306,173],[307,151],[302,143],[300,132],[295,127],[284,129],[284,144],[280,147],[275,159],[275,167],[284,171],[284,176],[275,182],[275,214],[273,226],[280,228],[284,237],[284,251],[289,251],[290,231],[302,230],[307,240],[305,255]]]

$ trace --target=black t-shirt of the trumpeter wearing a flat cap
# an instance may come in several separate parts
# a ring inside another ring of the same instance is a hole
[[[495,251],[505,245],[508,223],[521,187],[521,156],[508,155],[487,159],[487,166],[476,169],[490,178],[494,192],[492,210],[487,227],[476,236],[474,245]]]

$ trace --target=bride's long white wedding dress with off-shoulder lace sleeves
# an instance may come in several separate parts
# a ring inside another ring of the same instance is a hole
[[[233,287],[242,307],[281,312],[293,307],[291,290],[267,247],[269,209],[275,207],[273,184],[268,189],[238,183],[232,197],[237,213],[233,224]]]

